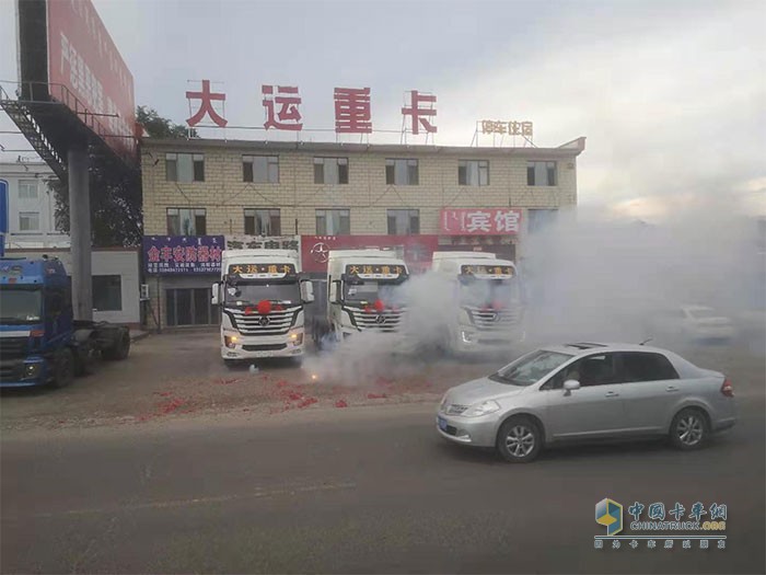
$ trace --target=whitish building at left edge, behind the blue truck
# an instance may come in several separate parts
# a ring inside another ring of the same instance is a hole
[[[56,229],[56,198],[48,188],[53,170],[39,160],[0,163],[8,182],[5,249],[69,248],[69,235]]]

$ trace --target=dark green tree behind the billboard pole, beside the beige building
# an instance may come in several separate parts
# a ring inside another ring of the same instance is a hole
[[[155,110],[138,106],[136,119],[150,138],[187,138],[186,126],[161,117]],[[193,138],[196,130],[190,131]],[[48,181],[56,198],[56,225],[69,233],[69,186],[58,179]],[[141,244],[143,234],[142,193],[140,172],[116,174],[101,162],[91,161],[91,233],[95,248]]]

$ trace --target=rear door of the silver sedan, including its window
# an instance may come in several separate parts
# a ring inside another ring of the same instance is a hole
[[[654,352],[624,352],[617,354],[616,368],[627,430],[664,433],[682,387],[673,364]]]

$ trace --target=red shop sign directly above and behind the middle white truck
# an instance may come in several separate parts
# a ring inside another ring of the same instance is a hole
[[[301,235],[303,272],[326,272],[330,250],[387,249],[394,251],[410,273],[426,272],[439,249],[438,235]]]

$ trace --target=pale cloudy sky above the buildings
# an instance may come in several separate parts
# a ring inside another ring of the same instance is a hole
[[[479,119],[532,120],[539,147],[585,136],[582,205],[651,220],[736,194],[766,214],[763,1],[93,1],[136,103],[178,123],[204,78],[221,82],[232,126],[263,125],[262,84],[298,85],[305,126],[330,129],[333,89],[370,87],[374,127],[397,130],[419,90],[438,99],[437,145],[469,145]],[[15,22],[1,18],[0,80],[18,78],[15,61]]]

